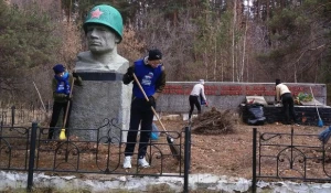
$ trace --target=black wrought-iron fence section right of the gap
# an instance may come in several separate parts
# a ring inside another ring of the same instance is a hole
[[[302,132],[302,131],[301,131]],[[301,182],[331,182],[331,144],[318,135],[258,132],[253,129],[253,180],[277,179]]]

